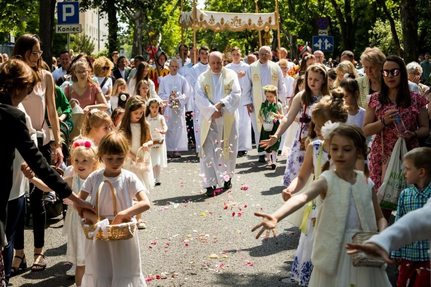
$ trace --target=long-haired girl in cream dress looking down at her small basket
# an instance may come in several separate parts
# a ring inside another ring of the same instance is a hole
[[[137,157],[150,151],[153,145],[153,139],[150,132],[150,124],[145,120],[145,102],[139,95],[134,95],[127,100],[125,112],[120,123],[120,131],[125,133],[125,136],[130,144],[130,151],[124,169],[135,173],[141,182],[147,187],[147,191],[154,188],[154,174],[150,157],[148,171],[136,171],[132,169],[132,160],[136,161]],[[142,148],[142,149],[141,149]],[[139,151],[141,149],[141,151]],[[138,151],[140,154],[138,154]],[[142,161],[142,158],[138,161]],[[146,228],[145,222],[141,219],[141,215],[137,216],[139,229]]]

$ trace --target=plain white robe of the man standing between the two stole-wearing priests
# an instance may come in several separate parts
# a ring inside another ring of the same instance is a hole
[[[239,64],[230,63],[226,65],[227,69],[234,70],[235,73],[247,71],[248,64],[239,62]],[[238,79],[241,88],[244,86],[245,76]],[[239,127],[238,127],[238,151],[251,151],[251,119],[248,114],[247,107],[240,105],[239,112]]]

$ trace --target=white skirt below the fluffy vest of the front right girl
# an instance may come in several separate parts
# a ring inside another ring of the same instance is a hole
[[[348,242],[352,242],[353,235],[359,230],[347,230],[344,233],[344,240],[338,255],[336,274],[329,275],[314,266],[311,273],[309,287],[391,287],[392,284],[387,278],[386,264],[380,268],[375,267],[354,267],[352,256],[347,254],[344,248]],[[328,243],[330,244],[330,243]]]

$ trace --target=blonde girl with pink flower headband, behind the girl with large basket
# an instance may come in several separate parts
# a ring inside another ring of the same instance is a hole
[[[87,177],[99,167],[95,145],[91,139],[80,136],[79,139],[73,141],[70,149],[70,160],[74,175],[64,177],[64,181],[69,184],[75,194],[78,194]],[[46,192],[51,190],[36,177],[30,181],[41,190]],[[66,200],[65,203],[70,204],[71,202]],[[66,212],[63,236],[67,236],[66,260],[76,265],[75,283],[76,286],[81,286],[82,276],[85,272],[85,236],[82,232],[81,218],[72,205],[69,205]]]

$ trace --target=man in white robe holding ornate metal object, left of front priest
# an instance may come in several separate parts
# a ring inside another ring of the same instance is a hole
[[[186,112],[185,105],[190,97],[190,87],[186,78],[178,74],[179,68],[178,60],[172,59],[169,63],[170,73],[161,79],[158,92],[163,101],[169,101],[169,106],[164,111],[164,117],[167,125],[166,150],[170,157],[181,157],[179,152],[188,150],[184,115]],[[171,98],[171,93],[174,90],[178,92],[174,97],[177,99],[176,101]]]

